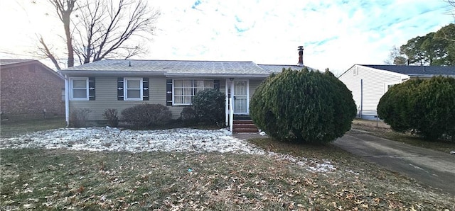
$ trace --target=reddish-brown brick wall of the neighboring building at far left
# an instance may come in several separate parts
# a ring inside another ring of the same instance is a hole
[[[2,118],[36,119],[65,115],[62,89],[65,81],[43,64],[0,68],[0,111]]]

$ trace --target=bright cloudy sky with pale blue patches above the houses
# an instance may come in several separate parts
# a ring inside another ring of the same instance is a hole
[[[36,33],[61,30],[32,0],[0,2],[0,57],[28,59]],[[43,3],[44,0],[36,0]],[[454,23],[443,0],[156,0],[161,11],[149,54],[137,59],[304,64],[341,74],[353,64],[383,64],[390,48]],[[51,40],[52,42],[53,40]],[[60,42],[55,39],[55,42]]]

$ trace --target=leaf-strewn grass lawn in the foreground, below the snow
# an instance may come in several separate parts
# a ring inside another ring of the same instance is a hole
[[[455,210],[453,196],[424,188],[331,145],[252,142],[271,153],[1,149],[0,206],[13,210]],[[314,168],[309,168],[311,163]]]

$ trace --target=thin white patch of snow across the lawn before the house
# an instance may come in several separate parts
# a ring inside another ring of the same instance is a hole
[[[262,134],[261,134],[262,135]],[[265,135],[265,133],[264,133]],[[68,149],[111,152],[221,152],[265,154],[289,161],[312,172],[336,170],[329,161],[317,161],[264,152],[232,132],[179,128],[170,130],[119,130],[116,127],[60,128],[34,132],[20,137],[0,138],[0,149]]]

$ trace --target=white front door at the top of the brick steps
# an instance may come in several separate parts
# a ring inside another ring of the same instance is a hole
[[[233,109],[234,114],[248,114],[248,81],[235,80],[233,81],[232,98],[234,98]]]

